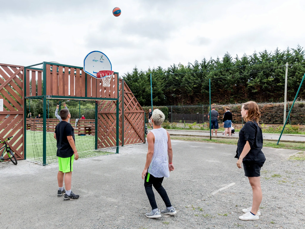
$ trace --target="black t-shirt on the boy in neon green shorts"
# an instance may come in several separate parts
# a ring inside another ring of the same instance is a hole
[[[61,121],[55,127],[55,134],[57,140],[57,157],[69,158],[74,154],[72,147],[69,144],[67,136],[72,136],[74,143],[74,129],[69,122]]]

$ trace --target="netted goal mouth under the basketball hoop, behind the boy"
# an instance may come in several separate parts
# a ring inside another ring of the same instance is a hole
[[[44,121],[42,100],[27,100],[27,160],[44,164],[45,146],[45,163],[57,162],[54,131],[59,123],[59,111],[63,108],[71,114],[69,122],[74,128],[75,145],[80,158],[116,153],[116,139],[108,135],[116,120],[115,105],[111,100],[47,100]]]

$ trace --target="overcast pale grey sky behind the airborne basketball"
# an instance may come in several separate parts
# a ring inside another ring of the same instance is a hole
[[[83,66],[98,50],[124,75],[303,47],[304,10],[303,0],[0,0],[0,63]]]

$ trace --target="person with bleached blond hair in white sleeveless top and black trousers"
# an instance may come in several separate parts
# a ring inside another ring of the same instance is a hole
[[[162,111],[155,109],[152,112],[152,127],[153,129],[147,134],[148,152],[146,155],[146,163],[142,172],[145,191],[152,207],[150,213],[146,213],[148,218],[161,217],[157,207],[155,195],[152,191],[152,186],[162,197],[166,209],[162,210],[162,214],[174,215],[176,210],[170,203],[165,189],[162,186],[164,177],[169,177],[169,171],[174,171],[173,165],[173,150],[170,143],[170,134],[166,129],[161,127],[165,116]],[[167,160],[168,156],[168,160]]]

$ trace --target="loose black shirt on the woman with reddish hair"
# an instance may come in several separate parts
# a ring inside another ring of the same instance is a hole
[[[254,120],[253,120],[254,121]],[[242,161],[249,162],[264,162],[266,160],[262,151],[263,148],[263,134],[257,122],[248,121],[239,131],[239,140],[237,143],[237,150],[235,158],[239,158],[246,142],[250,144],[250,151],[243,158]]]

